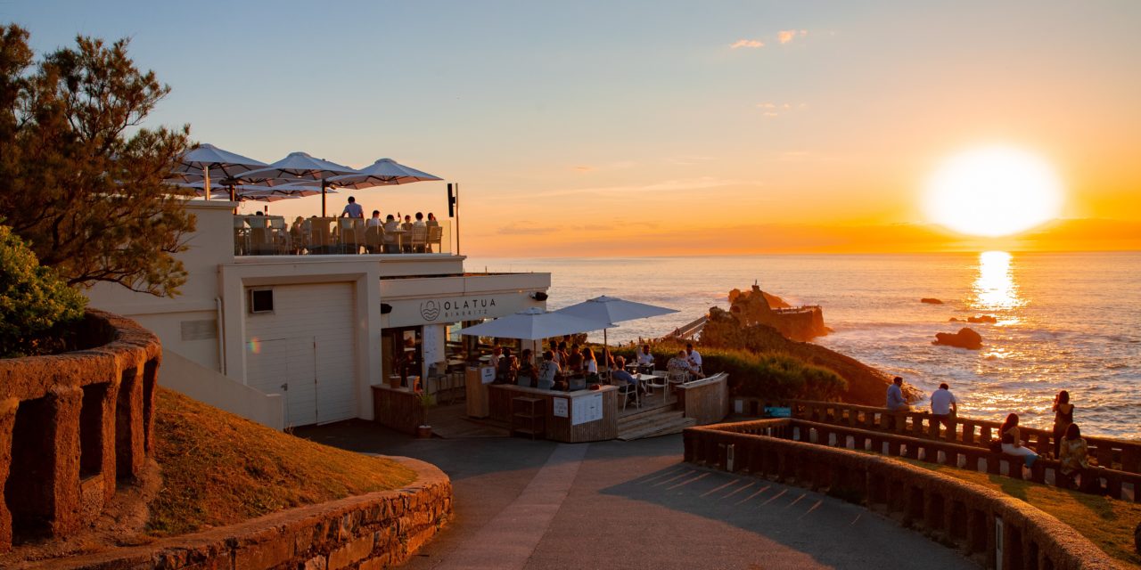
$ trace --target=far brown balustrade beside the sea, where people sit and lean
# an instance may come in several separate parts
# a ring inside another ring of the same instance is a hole
[[[968,446],[986,447],[998,438],[1002,422],[973,417],[953,417],[950,430],[940,429],[934,416],[925,412],[893,413],[887,408],[830,401],[793,400],[793,417],[811,422],[858,426],[873,431],[892,431],[916,438],[936,438]],[[1053,451],[1053,432],[1021,425],[1019,431],[1027,447],[1038,455]],[[1090,456],[1098,464],[1130,473],[1141,473],[1141,442],[1084,435]]]

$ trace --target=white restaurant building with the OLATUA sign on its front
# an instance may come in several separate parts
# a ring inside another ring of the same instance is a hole
[[[448,220],[435,253],[243,255],[235,205],[187,203],[197,229],[179,296],[113,284],[88,296],[159,335],[160,384],[273,427],[372,420],[370,386],[394,373],[394,352],[423,375],[460,323],[545,308],[550,274],[464,271]]]

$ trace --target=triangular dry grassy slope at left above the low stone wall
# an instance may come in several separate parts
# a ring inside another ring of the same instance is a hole
[[[160,388],[155,458],[162,489],[147,531],[172,536],[370,491],[396,489],[412,470],[294,438]]]

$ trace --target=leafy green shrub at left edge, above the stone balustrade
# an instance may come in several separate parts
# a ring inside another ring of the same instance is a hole
[[[83,317],[87,299],[24,242],[0,226],[0,358],[42,355],[64,345],[66,327]]]

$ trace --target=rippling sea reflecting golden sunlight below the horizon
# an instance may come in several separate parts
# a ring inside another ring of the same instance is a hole
[[[1083,433],[1141,439],[1139,252],[472,258],[467,267],[551,272],[550,309],[613,295],[680,311],[622,323],[609,329],[612,343],[662,336],[727,308],[730,290],[755,282],[792,304],[824,308],[834,332],[816,343],[928,393],[947,382],[961,415],[1001,421],[1015,412],[1049,426],[1054,394],[1068,390]],[[974,315],[997,323],[949,321]],[[962,326],[982,335],[982,350],[931,344]]]

